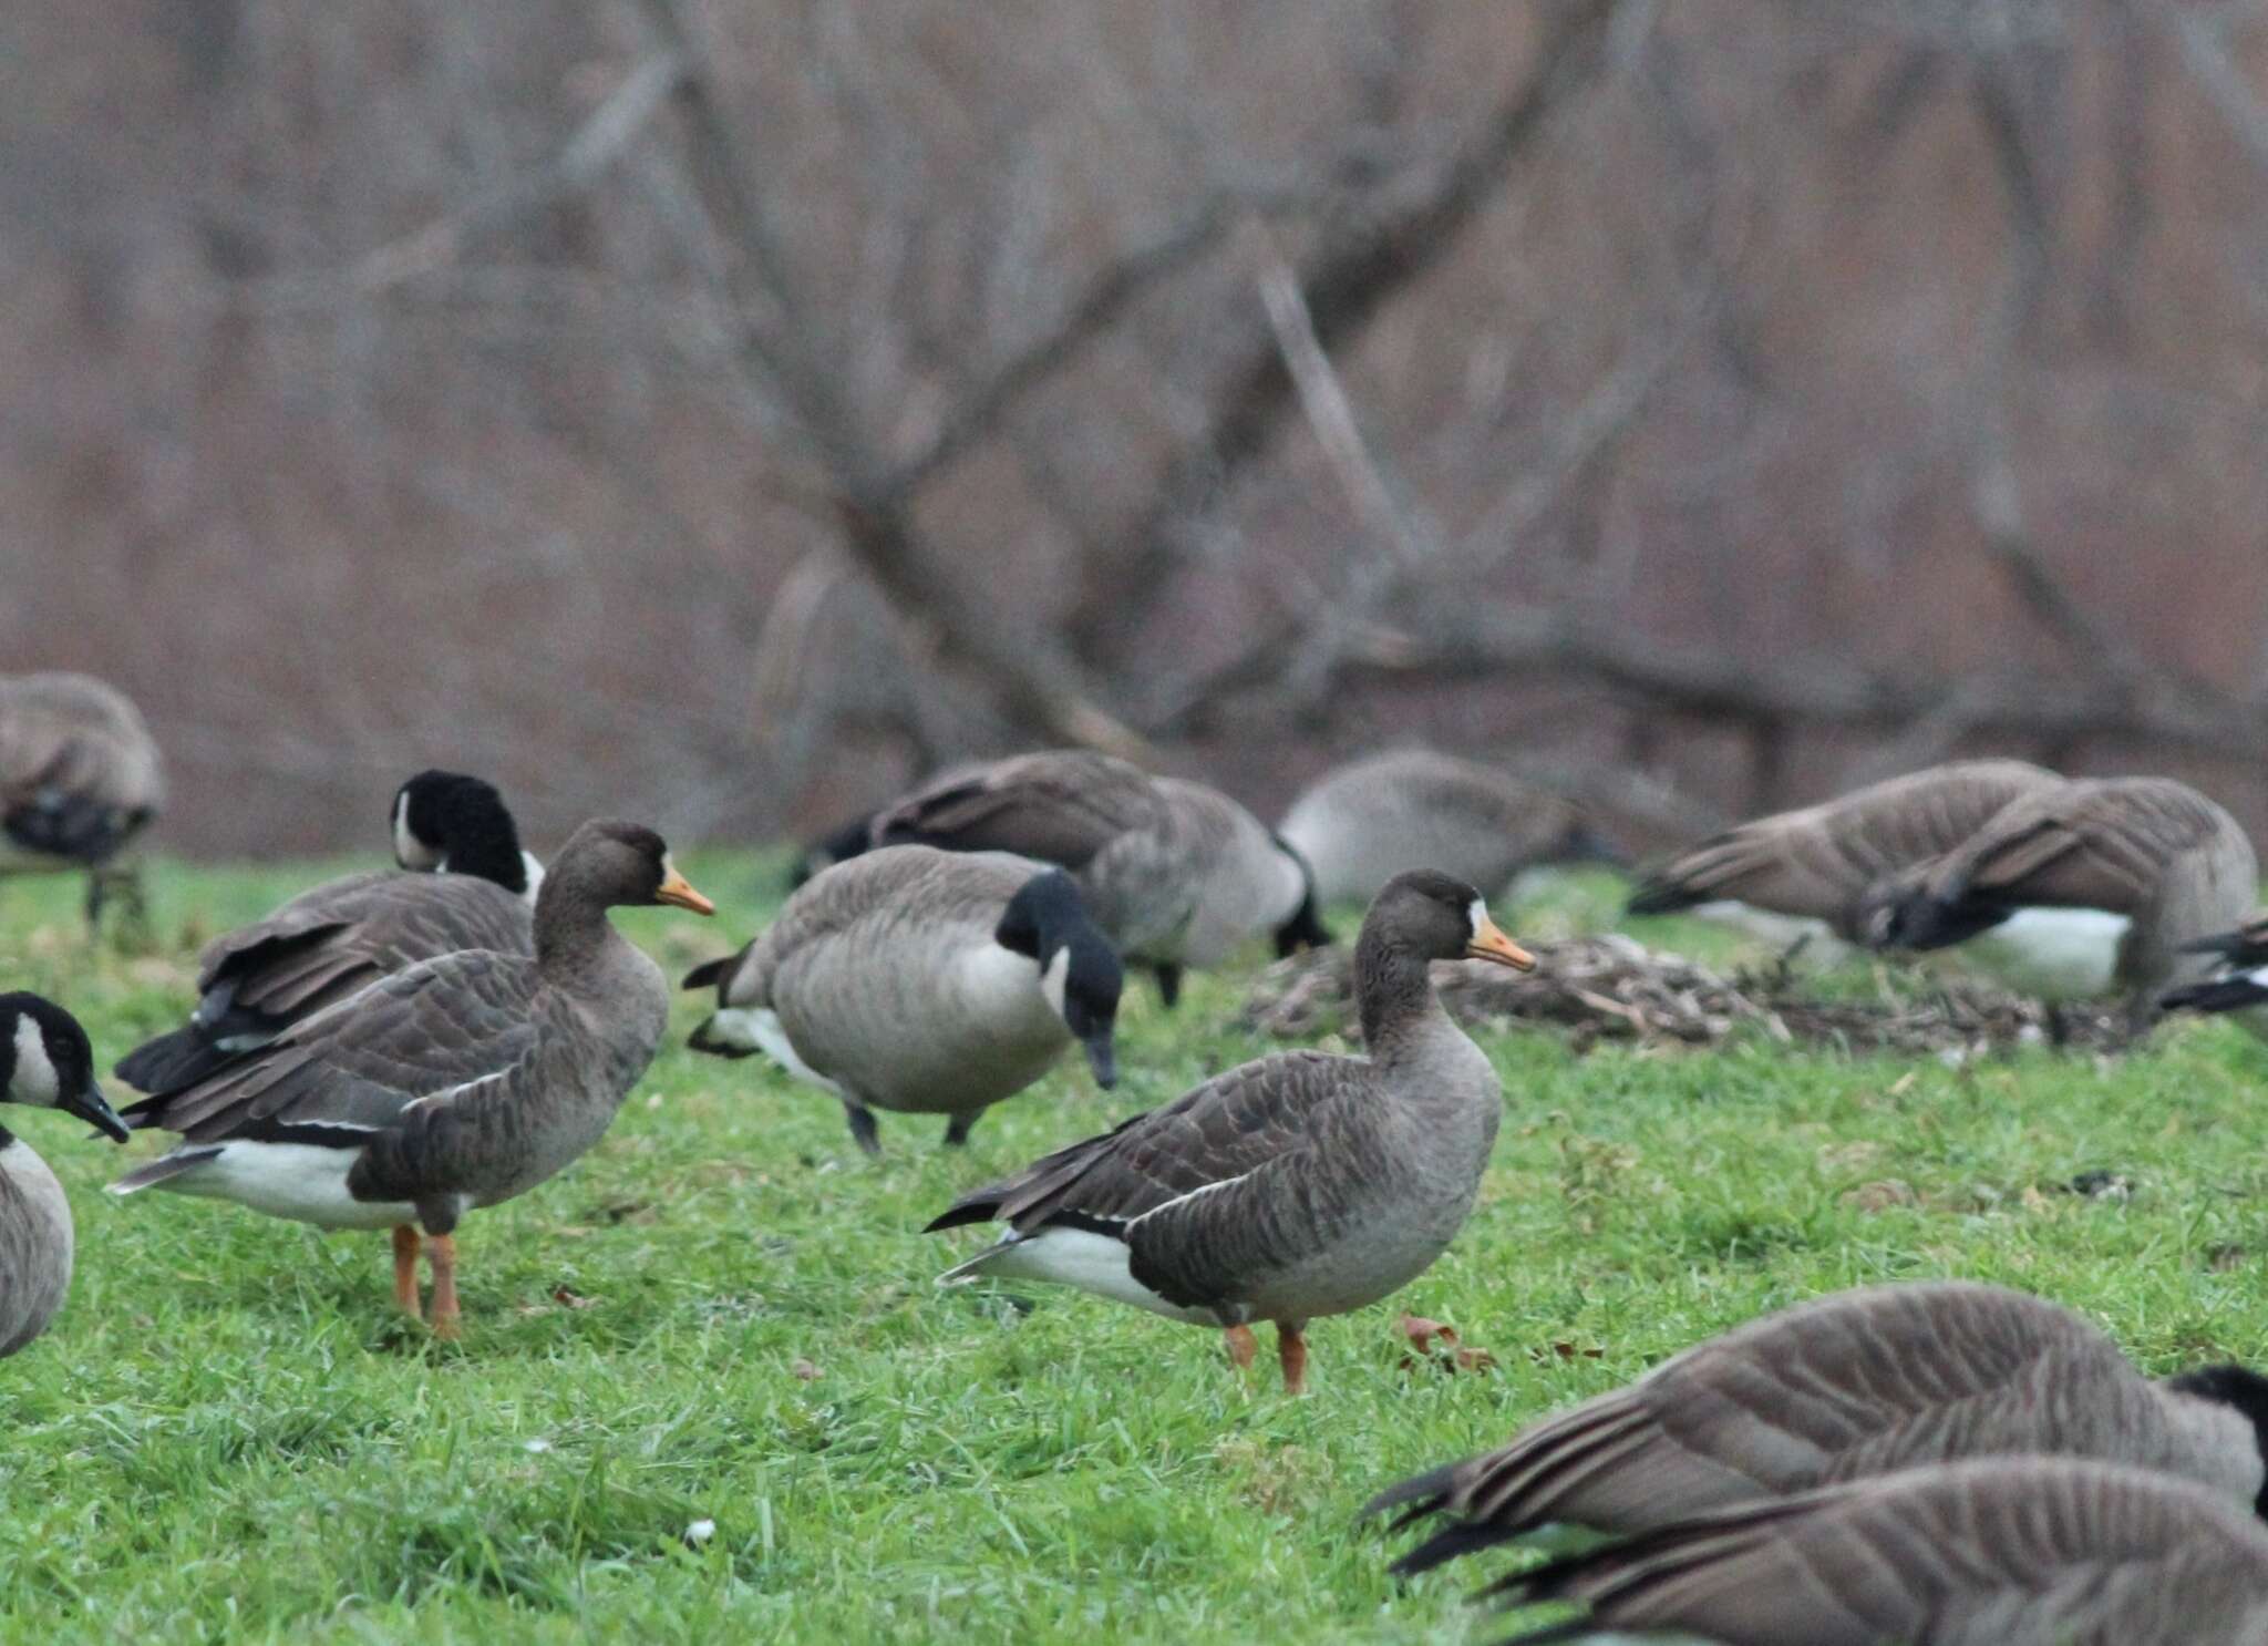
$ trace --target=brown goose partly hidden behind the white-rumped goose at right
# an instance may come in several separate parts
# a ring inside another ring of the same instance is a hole
[[[1692,911],[1812,957],[1864,941],[1867,893],[1971,839],[2009,800],[2062,782],[2021,760],[1962,760],[1712,834],[1644,875],[1631,914]]]

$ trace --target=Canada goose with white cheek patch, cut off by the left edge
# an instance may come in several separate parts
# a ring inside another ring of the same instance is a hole
[[[61,1109],[125,1140],[95,1086],[79,1020],[39,995],[0,995],[0,1100]],[[0,1356],[48,1329],[70,1290],[70,1202],[29,1143],[0,1127]]]

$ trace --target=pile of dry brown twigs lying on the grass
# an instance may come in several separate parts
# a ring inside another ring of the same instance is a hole
[[[2116,1011],[2055,1011],[1989,984],[1907,968],[1878,968],[1871,993],[1805,993],[1789,966],[1719,975],[1619,934],[1535,943],[1542,961],[1513,973],[1486,961],[1433,968],[1442,1004],[1465,1025],[1542,1023],[1585,1050],[1597,1041],[1719,1045],[1760,1034],[1789,1045],[1848,1052],[1980,1057],[2014,1045],[2105,1052],[2125,1043]],[[1309,1041],[1354,1034],[1354,959],[1347,945],[1270,966],[1245,1004],[1250,1029]]]

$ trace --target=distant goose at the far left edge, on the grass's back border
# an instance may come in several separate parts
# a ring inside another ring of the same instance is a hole
[[[166,805],[166,766],[141,710],[84,673],[0,676],[0,868],[86,871],[86,920],[116,886],[141,914],[118,852]]]

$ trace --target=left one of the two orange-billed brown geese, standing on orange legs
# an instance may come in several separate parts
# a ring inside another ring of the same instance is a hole
[[[129,1125],[181,1143],[111,1193],[170,1188],[322,1229],[392,1229],[395,1297],[413,1315],[422,1224],[433,1331],[456,1335],[458,1220],[576,1161],[653,1061],[669,984],[606,911],[658,902],[714,911],[653,830],[585,823],[535,898],[533,957],[422,961],[134,1104]]]

